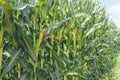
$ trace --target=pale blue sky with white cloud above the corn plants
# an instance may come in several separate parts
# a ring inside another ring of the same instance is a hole
[[[107,13],[118,27],[120,27],[120,0],[100,0]]]

